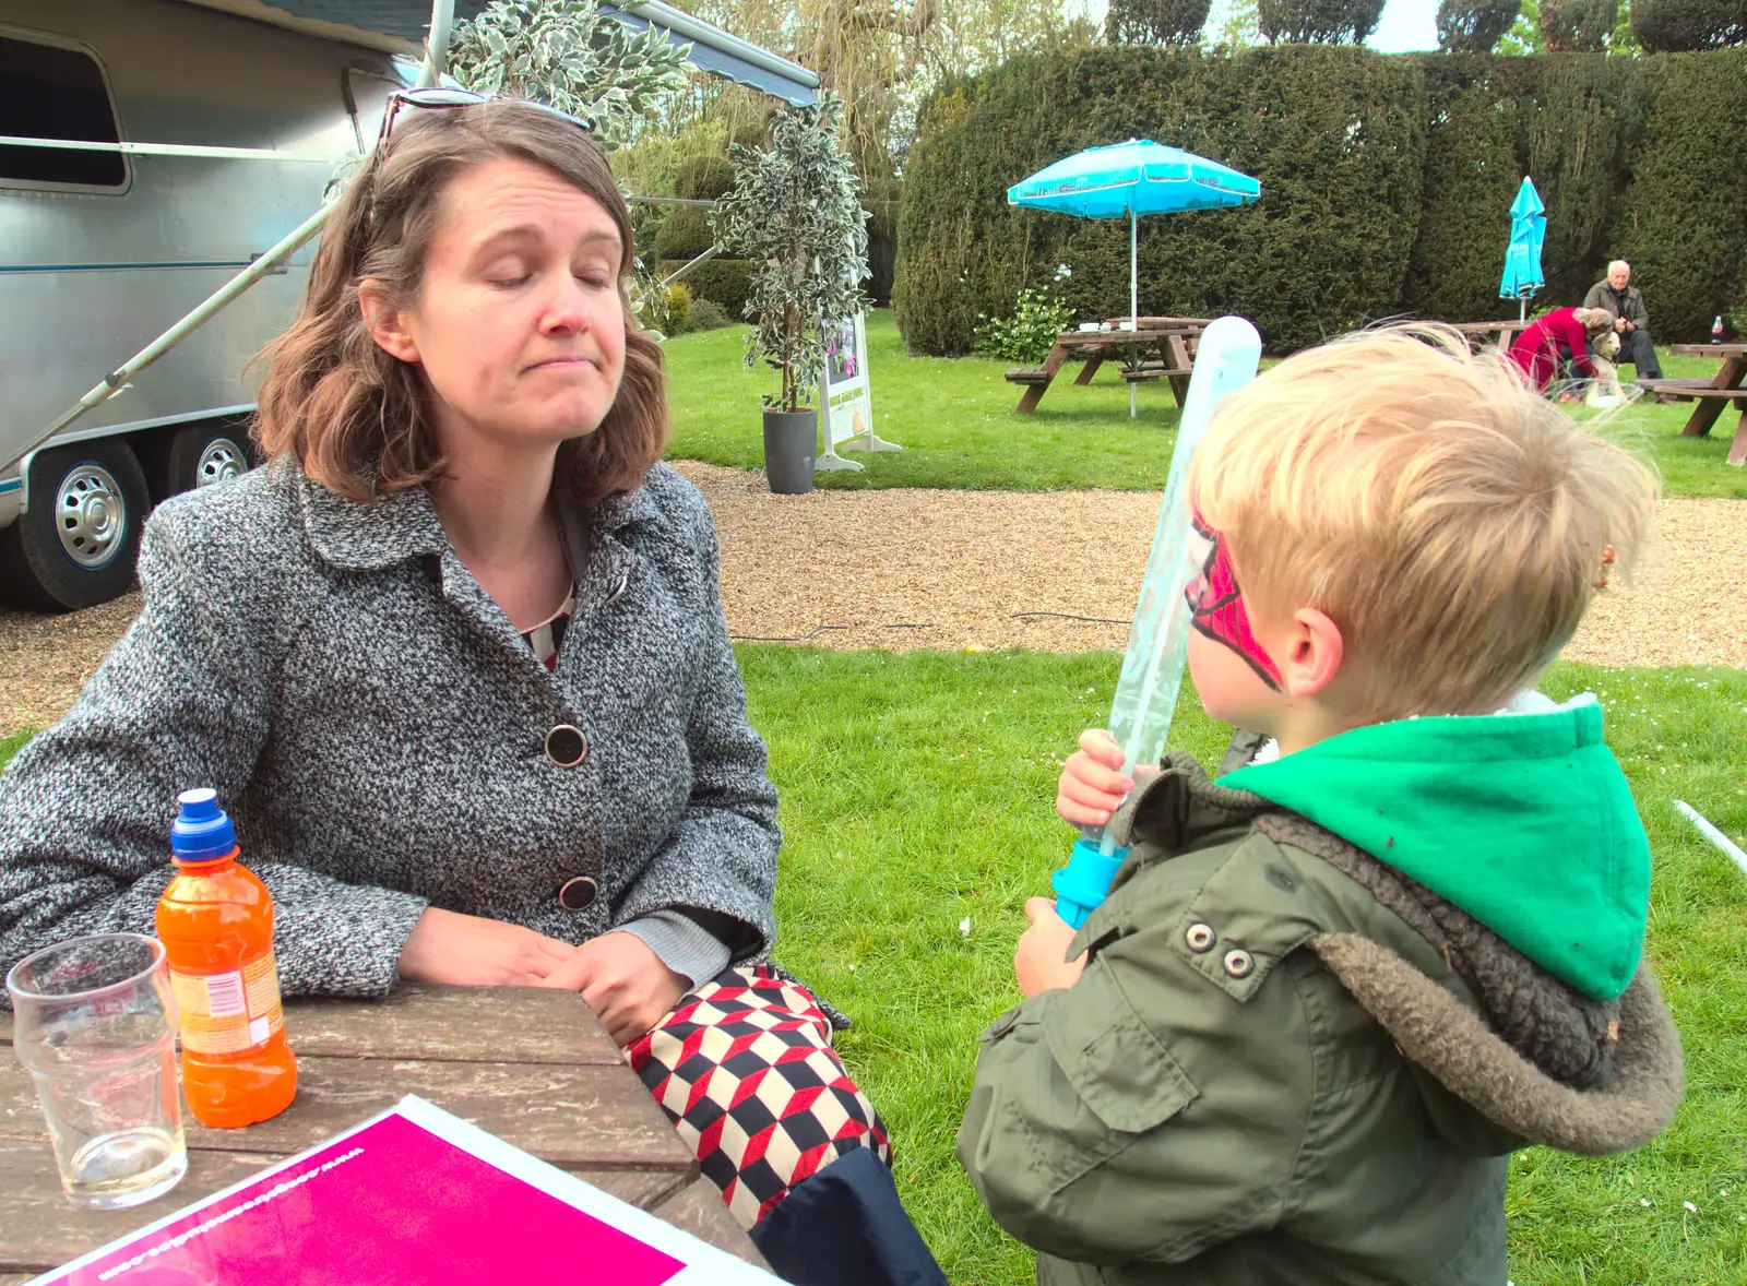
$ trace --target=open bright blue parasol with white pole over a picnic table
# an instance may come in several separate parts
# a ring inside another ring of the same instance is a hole
[[[1081,218],[1129,217],[1129,318],[1137,323],[1139,217],[1179,210],[1240,206],[1261,196],[1261,183],[1218,161],[1146,138],[1088,147],[1039,169],[1006,190],[1012,206],[1059,210]],[[1129,384],[1129,414],[1134,414],[1134,384]]]

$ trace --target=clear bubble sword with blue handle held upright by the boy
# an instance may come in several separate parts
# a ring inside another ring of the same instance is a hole
[[[1129,652],[1122,659],[1122,680],[1109,709],[1109,734],[1122,746],[1122,771],[1129,776],[1136,765],[1157,764],[1164,755],[1188,660],[1190,605],[1183,591],[1191,571],[1190,498],[1184,486],[1190,458],[1207,433],[1214,407],[1254,379],[1260,362],[1261,335],[1244,318],[1221,316],[1202,332],[1177,425],[1177,446],[1170,453],[1165,503],[1158,508],[1141,603],[1134,610]],[[1080,833],[1067,865],[1050,881],[1055,914],[1074,928],[1085,924],[1092,909],[1109,893],[1109,882],[1127,853],[1116,847],[1108,826],[1081,826]]]

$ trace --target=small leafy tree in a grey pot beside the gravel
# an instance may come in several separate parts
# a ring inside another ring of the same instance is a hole
[[[746,365],[783,376],[763,395],[765,477],[772,491],[812,491],[819,442],[814,390],[825,372],[825,335],[867,306],[867,211],[856,171],[837,145],[842,105],[826,94],[770,122],[770,150],[735,145],[734,189],[716,201],[716,245],[755,267],[746,316]]]

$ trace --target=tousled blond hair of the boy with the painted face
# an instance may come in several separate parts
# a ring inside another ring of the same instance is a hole
[[[1370,674],[1361,722],[1502,706],[1649,533],[1656,477],[1443,327],[1281,362],[1214,414],[1190,494],[1258,620],[1302,606]]]

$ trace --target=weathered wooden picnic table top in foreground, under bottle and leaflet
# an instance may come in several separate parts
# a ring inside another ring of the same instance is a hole
[[[400,984],[285,1006],[297,1099],[239,1130],[183,1111],[189,1172],[124,1211],[66,1200],[30,1073],[0,1013],[0,1286],[59,1267],[418,1094],[500,1139],[765,1267],[580,994]]]

